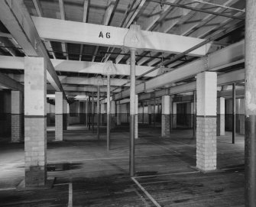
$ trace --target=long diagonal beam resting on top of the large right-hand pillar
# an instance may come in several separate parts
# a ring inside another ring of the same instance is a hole
[[[245,58],[245,40],[241,40],[236,44],[232,44],[228,47],[218,50],[215,53],[209,54],[207,57],[203,57],[199,60],[195,60],[184,66],[180,66],[176,70],[172,70],[168,73],[164,73],[161,76],[157,76],[154,79],[150,79],[147,82],[138,84],[136,86],[136,93],[149,92],[159,87],[169,87],[170,84],[178,82],[180,80],[196,76],[197,73],[201,73],[206,70],[219,70],[221,66],[225,66],[228,63],[232,63]],[[127,89],[121,93],[115,95],[114,99],[124,99],[128,97],[130,90]]]

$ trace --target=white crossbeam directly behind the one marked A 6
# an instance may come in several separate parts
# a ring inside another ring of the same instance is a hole
[[[104,73],[104,68],[107,63],[92,63],[86,61],[76,60],[55,60],[51,59],[56,71],[60,72],[74,72],[74,73]],[[113,64],[115,66],[115,75],[130,76],[130,66],[125,64]],[[13,69],[13,70],[24,70],[24,57],[9,57],[0,56],[0,68]],[[136,66],[136,76],[151,70],[151,66]],[[151,73],[145,75],[145,77],[154,77],[162,73],[165,73],[169,69],[160,68],[154,70]]]

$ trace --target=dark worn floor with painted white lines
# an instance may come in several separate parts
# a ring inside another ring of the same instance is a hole
[[[163,138],[160,128],[141,126],[134,181],[128,177],[128,125],[112,130],[109,152],[105,128],[100,141],[83,126],[63,134],[64,141],[54,142],[53,128],[47,130],[52,189],[16,190],[24,179],[24,144],[2,142],[1,206],[244,206],[244,136],[237,134],[236,144],[228,131],[218,137],[219,171],[199,173],[192,130]]]

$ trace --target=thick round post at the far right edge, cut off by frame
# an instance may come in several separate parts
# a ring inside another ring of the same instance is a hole
[[[245,207],[256,206],[256,2],[246,1],[245,18]]]

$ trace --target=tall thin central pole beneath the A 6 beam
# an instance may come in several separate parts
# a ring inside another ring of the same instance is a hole
[[[130,64],[130,156],[129,169],[130,176],[134,176],[134,127],[135,127],[135,49],[131,49],[131,64]]]

